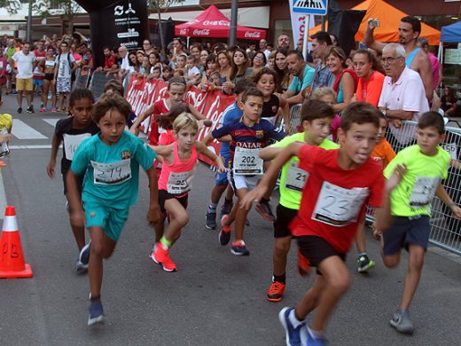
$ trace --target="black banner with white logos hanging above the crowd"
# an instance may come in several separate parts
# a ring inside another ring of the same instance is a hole
[[[104,65],[103,47],[142,49],[149,38],[145,0],[76,0],[90,14],[95,67]]]

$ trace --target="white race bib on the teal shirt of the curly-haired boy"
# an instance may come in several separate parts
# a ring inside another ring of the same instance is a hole
[[[113,163],[91,161],[95,185],[117,185],[131,178],[131,159]]]

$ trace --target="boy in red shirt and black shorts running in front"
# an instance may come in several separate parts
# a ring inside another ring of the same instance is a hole
[[[286,344],[324,345],[324,328],[336,304],[350,286],[350,273],[344,260],[365,216],[366,204],[377,208],[376,220],[383,228],[390,224],[388,190],[398,176],[388,180],[384,189],[382,166],[370,158],[376,145],[379,111],[364,103],[349,105],[341,116],[340,149],[322,148],[295,142],[285,147],[270,164],[270,169],[242,206],[259,201],[279,169],[293,156],[300,169],[309,172],[298,216],[290,225],[298,240],[300,272],[317,268],[314,285],[295,309],[284,308],[279,319],[285,327]],[[381,207],[381,204],[383,208]],[[305,318],[316,309],[310,326]]]

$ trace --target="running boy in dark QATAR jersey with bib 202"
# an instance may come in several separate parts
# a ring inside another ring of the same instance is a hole
[[[263,161],[259,157],[261,149],[267,146],[270,139],[280,140],[285,132],[277,130],[267,120],[261,119],[263,95],[256,88],[246,89],[239,106],[243,109],[243,116],[238,122],[230,122],[221,129],[213,130],[213,138],[222,138],[230,135],[230,184],[241,201],[248,191],[252,190],[263,174]],[[235,221],[234,241],[230,252],[235,256],[248,256],[250,252],[243,240],[246,216],[248,210],[234,205],[229,215],[221,220],[219,242],[225,246],[230,241],[230,225]]]

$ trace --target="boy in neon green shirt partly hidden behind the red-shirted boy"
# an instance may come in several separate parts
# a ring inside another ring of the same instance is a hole
[[[285,137],[274,145],[263,148],[260,157],[272,160],[285,146],[293,142],[306,142],[309,145],[324,149],[336,149],[340,145],[327,139],[334,118],[332,106],[319,100],[308,100],[301,107],[301,124],[304,132]],[[267,300],[280,302],[285,291],[286,256],[290,250],[292,233],[288,225],[298,214],[301,204],[301,193],[309,177],[309,173],[298,167],[298,157],[294,156],[286,162],[280,176],[280,201],[277,206],[277,220],[274,222],[274,272]]]

